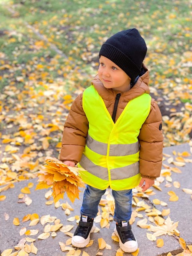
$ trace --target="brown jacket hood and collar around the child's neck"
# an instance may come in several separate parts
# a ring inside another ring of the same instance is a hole
[[[121,93],[124,98],[124,101],[129,102],[130,100],[144,93],[148,93],[148,94],[150,93],[150,89],[148,87],[149,71],[144,64],[142,65],[142,67],[145,73],[142,74],[142,76],[138,78],[136,84],[126,92],[105,88],[98,75],[96,75],[92,80],[92,85],[104,100],[114,100],[114,98],[116,97],[116,94]]]

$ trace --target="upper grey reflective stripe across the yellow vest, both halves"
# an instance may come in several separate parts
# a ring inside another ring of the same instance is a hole
[[[108,144],[94,140],[89,134],[87,136],[86,146],[97,154],[102,156],[107,155]],[[138,141],[131,144],[110,144],[109,156],[129,156],[137,152],[139,152]]]

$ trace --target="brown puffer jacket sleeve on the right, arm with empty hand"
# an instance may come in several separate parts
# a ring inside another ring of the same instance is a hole
[[[162,116],[154,99],[148,117],[140,129],[139,169],[144,178],[155,179],[160,176],[163,157]]]

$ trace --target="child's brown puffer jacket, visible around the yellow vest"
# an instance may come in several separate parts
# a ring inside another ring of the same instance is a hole
[[[148,87],[149,72],[145,66],[143,67],[146,72],[138,78],[134,87],[127,92],[106,89],[98,75],[92,81],[94,88],[104,100],[106,108],[111,116],[113,113],[116,94],[121,93],[116,113],[116,120],[119,118],[130,100],[144,93],[150,93]],[[60,152],[61,161],[68,160],[77,163],[80,162],[82,157],[89,127],[88,120],[82,108],[82,94],[83,93],[74,100],[69,111],[68,118],[64,124],[62,149]],[[163,148],[161,127],[162,116],[158,105],[154,99],[152,99],[150,113],[142,125],[138,136],[140,143],[139,170],[141,176],[144,178],[155,179],[160,176]]]

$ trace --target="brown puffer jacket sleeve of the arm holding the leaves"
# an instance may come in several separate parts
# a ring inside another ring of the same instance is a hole
[[[81,160],[88,134],[88,120],[82,108],[82,94],[73,102],[64,124],[60,160],[76,164]]]

